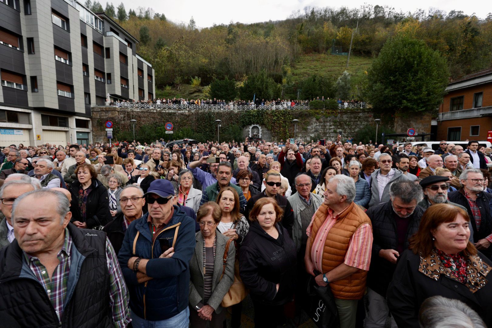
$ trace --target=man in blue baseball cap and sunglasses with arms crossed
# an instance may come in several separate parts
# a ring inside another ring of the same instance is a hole
[[[149,212],[131,222],[118,254],[133,325],[188,328],[195,223],[173,205],[174,187],[167,179],[152,181],[143,197]]]

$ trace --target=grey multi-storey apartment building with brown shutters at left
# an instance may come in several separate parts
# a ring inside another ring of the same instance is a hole
[[[91,107],[154,98],[137,43],[77,1],[0,0],[0,146],[89,144]]]

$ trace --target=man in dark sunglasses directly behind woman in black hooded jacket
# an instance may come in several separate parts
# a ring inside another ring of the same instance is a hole
[[[283,209],[283,217],[280,224],[289,232],[290,238],[292,238],[292,226],[294,225],[294,212],[287,197],[280,195],[281,177],[280,173],[275,170],[270,170],[265,174],[265,180],[263,181],[265,190],[261,193],[252,196],[246,203],[245,217],[249,220],[249,212],[253,209],[254,203],[258,199],[264,197],[272,197],[277,201],[278,206]],[[310,186],[309,186],[310,187]],[[241,191],[241,195],[243,192]]]

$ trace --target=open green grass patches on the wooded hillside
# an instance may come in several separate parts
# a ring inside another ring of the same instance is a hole
[[[350,56],[348,72],[352,75],[353,80],[361,77],[372,63],[370,57]],[[292,67],[292,81],[299,82],[311,74],[318,74],[338,78],[345,70],[347,62],[346,56],[326,55],[326,54],[308,54],[301,56]],[[204,99],[207,98],[202,92],[203,87],[193,87],[188,84],[182,84],[180,89],[156,89],[157,98],[187,98],[187,99]]]

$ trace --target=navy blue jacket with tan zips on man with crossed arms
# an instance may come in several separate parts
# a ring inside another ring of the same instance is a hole
[[[149,213],[133,221],[126,230],[118,253],[118,261],[130,292],[130,308],[137,316],[149,321],[169,319],[188,306],[189,262],[195,251],[195,223],[179,207],[173,208],[173,217],[154,243],[147,223]],[[159,239],[168,239],[171,246],[176,230],[174,255],[169,259],[159,259]],[[137,231],[139,236],[133,253]],[[146,271],[154,279],[140,284],[137,282],[136,272],[127,267],[129,258],[133,256],[150,259]]]

